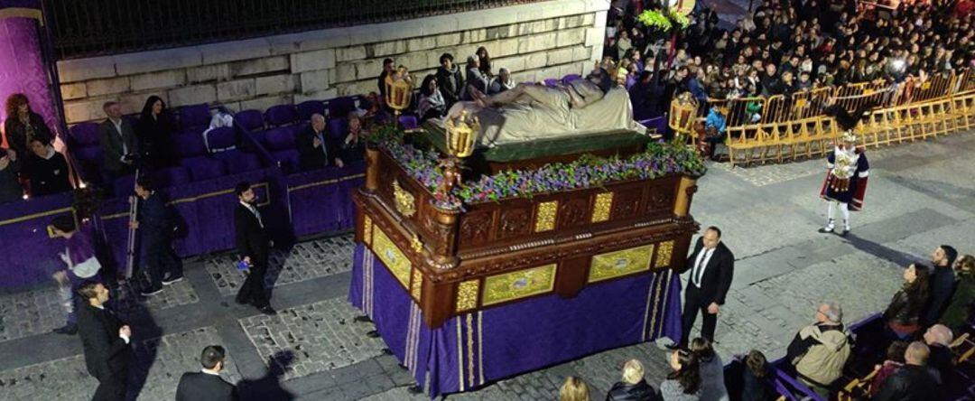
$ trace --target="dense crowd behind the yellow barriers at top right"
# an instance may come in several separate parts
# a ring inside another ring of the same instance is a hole
[[[637,119],[663,114],[683,92],[700,101],[788,97],[880,79],[923,80],[970,67],[975,55],[972,14],[951,5],[904,2],[868,13],[853,0],[765,0],[735,26],[702,7],[672,49],[670,36],[636,19],[657,2],[615,3],[601,64],[630,90]]]

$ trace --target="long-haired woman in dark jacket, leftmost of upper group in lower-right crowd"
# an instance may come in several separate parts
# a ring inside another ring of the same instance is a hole
[[[913,336],[920,327],[920,313],[927,301],[929,274],[924,265],[911,264],[904,269],[904,284],[883,312],[887,329],[899,340]]]

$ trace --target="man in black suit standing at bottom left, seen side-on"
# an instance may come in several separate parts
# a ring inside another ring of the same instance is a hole
[[[98,379],[93,400],[125,400],[132,350],[132,329],[105,309],[108,289],[88,282],[78,288],[85,305],[78,311],[78,334],[85,349],[88,373]]]

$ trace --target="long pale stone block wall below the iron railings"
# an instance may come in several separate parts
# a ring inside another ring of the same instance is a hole
[[[418,20],[357,25],[235,42],[59,61],[69,124],[104,118],[101,104],[119,100],[138,112],[157,95],[170,106],[207,102],[231,110],[376,91],[385,58],[407,65],[417,80],[440,55],[463,65],[487,48],[494,70],[516,82],[582,73],[603,54],[608,0],[552,0]],[[419,82],[417,82],[419,85]]]

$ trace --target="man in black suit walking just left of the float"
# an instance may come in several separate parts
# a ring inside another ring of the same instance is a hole
[[[237,252],[249,270],[247,279],[237,293],[236,301],[240,304],[251,303],[261,313],[273,315],[277,312],[264,293],[264,273],[267,272],[270,241],[264,234],[264,221],[257,210],[257,196],[249,182],[238,183],[234,193],[238,200],[234,210]]]

